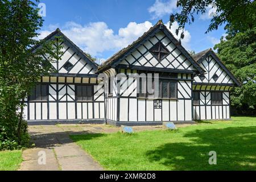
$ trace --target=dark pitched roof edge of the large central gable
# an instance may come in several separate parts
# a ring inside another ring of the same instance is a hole
[[[155,26],[151,27],[147,32],[145,32],[141,37],[135,40],[126,48],[121,49],[117,53],[115,53],[112,57],[106,60],[98,67],[98,72],[105,71],[111,67],[115,67],[123,57],[127,56],[129,53],[133,52],[135,48],[141,46],[143,42],[146,42],[147,39],[151,37],[151,35],[156,34],[159,31],[163,31],[168,38],[177,46],[177,48],[187,57],[187,59],[193,64],[193,66],[197,69],[199,73],[204,73],[204,69],[200,67],[199,64],[196,63],[195,60],[189,55],[189,53],[179,44],[179,42],[174,38],[168,28],[163,24],[162,20],[159,20]]]

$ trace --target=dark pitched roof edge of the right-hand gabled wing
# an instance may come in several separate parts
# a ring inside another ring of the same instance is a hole
[[[228,68],[226,68],[225,64],[222,63],[222,61],[220,60],[220,58],[218,58],[218,56],[212,50],[212,48],[201,51],[201,52],[197,53],[196,55],[193,55],[192,57],[194,60],[197,61],[198,64],[201,64],[202,61],[208,56],[212,56],[213,59],[217,61],[217,63],[220,65],[220,67],[222,69],[224,69],[224,71],[230,76],[230,78],[232,78],[232,80],[237,84],[237,86],[242,86],[242,83],[229,71]]]

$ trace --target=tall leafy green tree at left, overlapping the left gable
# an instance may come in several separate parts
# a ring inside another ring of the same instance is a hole
[[[61,53],[58,38],[35,40],[43,26],[38,0],[0,1],[0,150],[27,144],[24,101],[41,75],[53,72]],[[33,46],[40,44],[38,49]],[[47,55],[45,60],[42,55]]]

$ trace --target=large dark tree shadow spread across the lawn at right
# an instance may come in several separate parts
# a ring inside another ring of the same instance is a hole
[[[190,142],[166,143],[147,151],[150,162],[175,170],[255,170],[256,127],[196,130],[184,135]],[[210,151],[217,165],[209,165]]]

